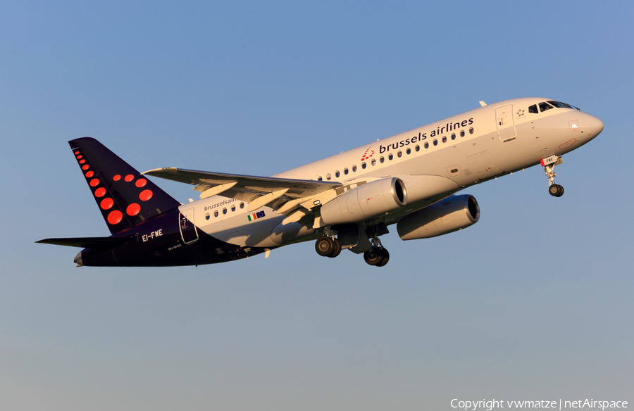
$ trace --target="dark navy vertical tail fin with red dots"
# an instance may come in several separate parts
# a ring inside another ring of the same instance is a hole
[[[99,141],[83,137],[68,144],[112,234],[180,205]]]

